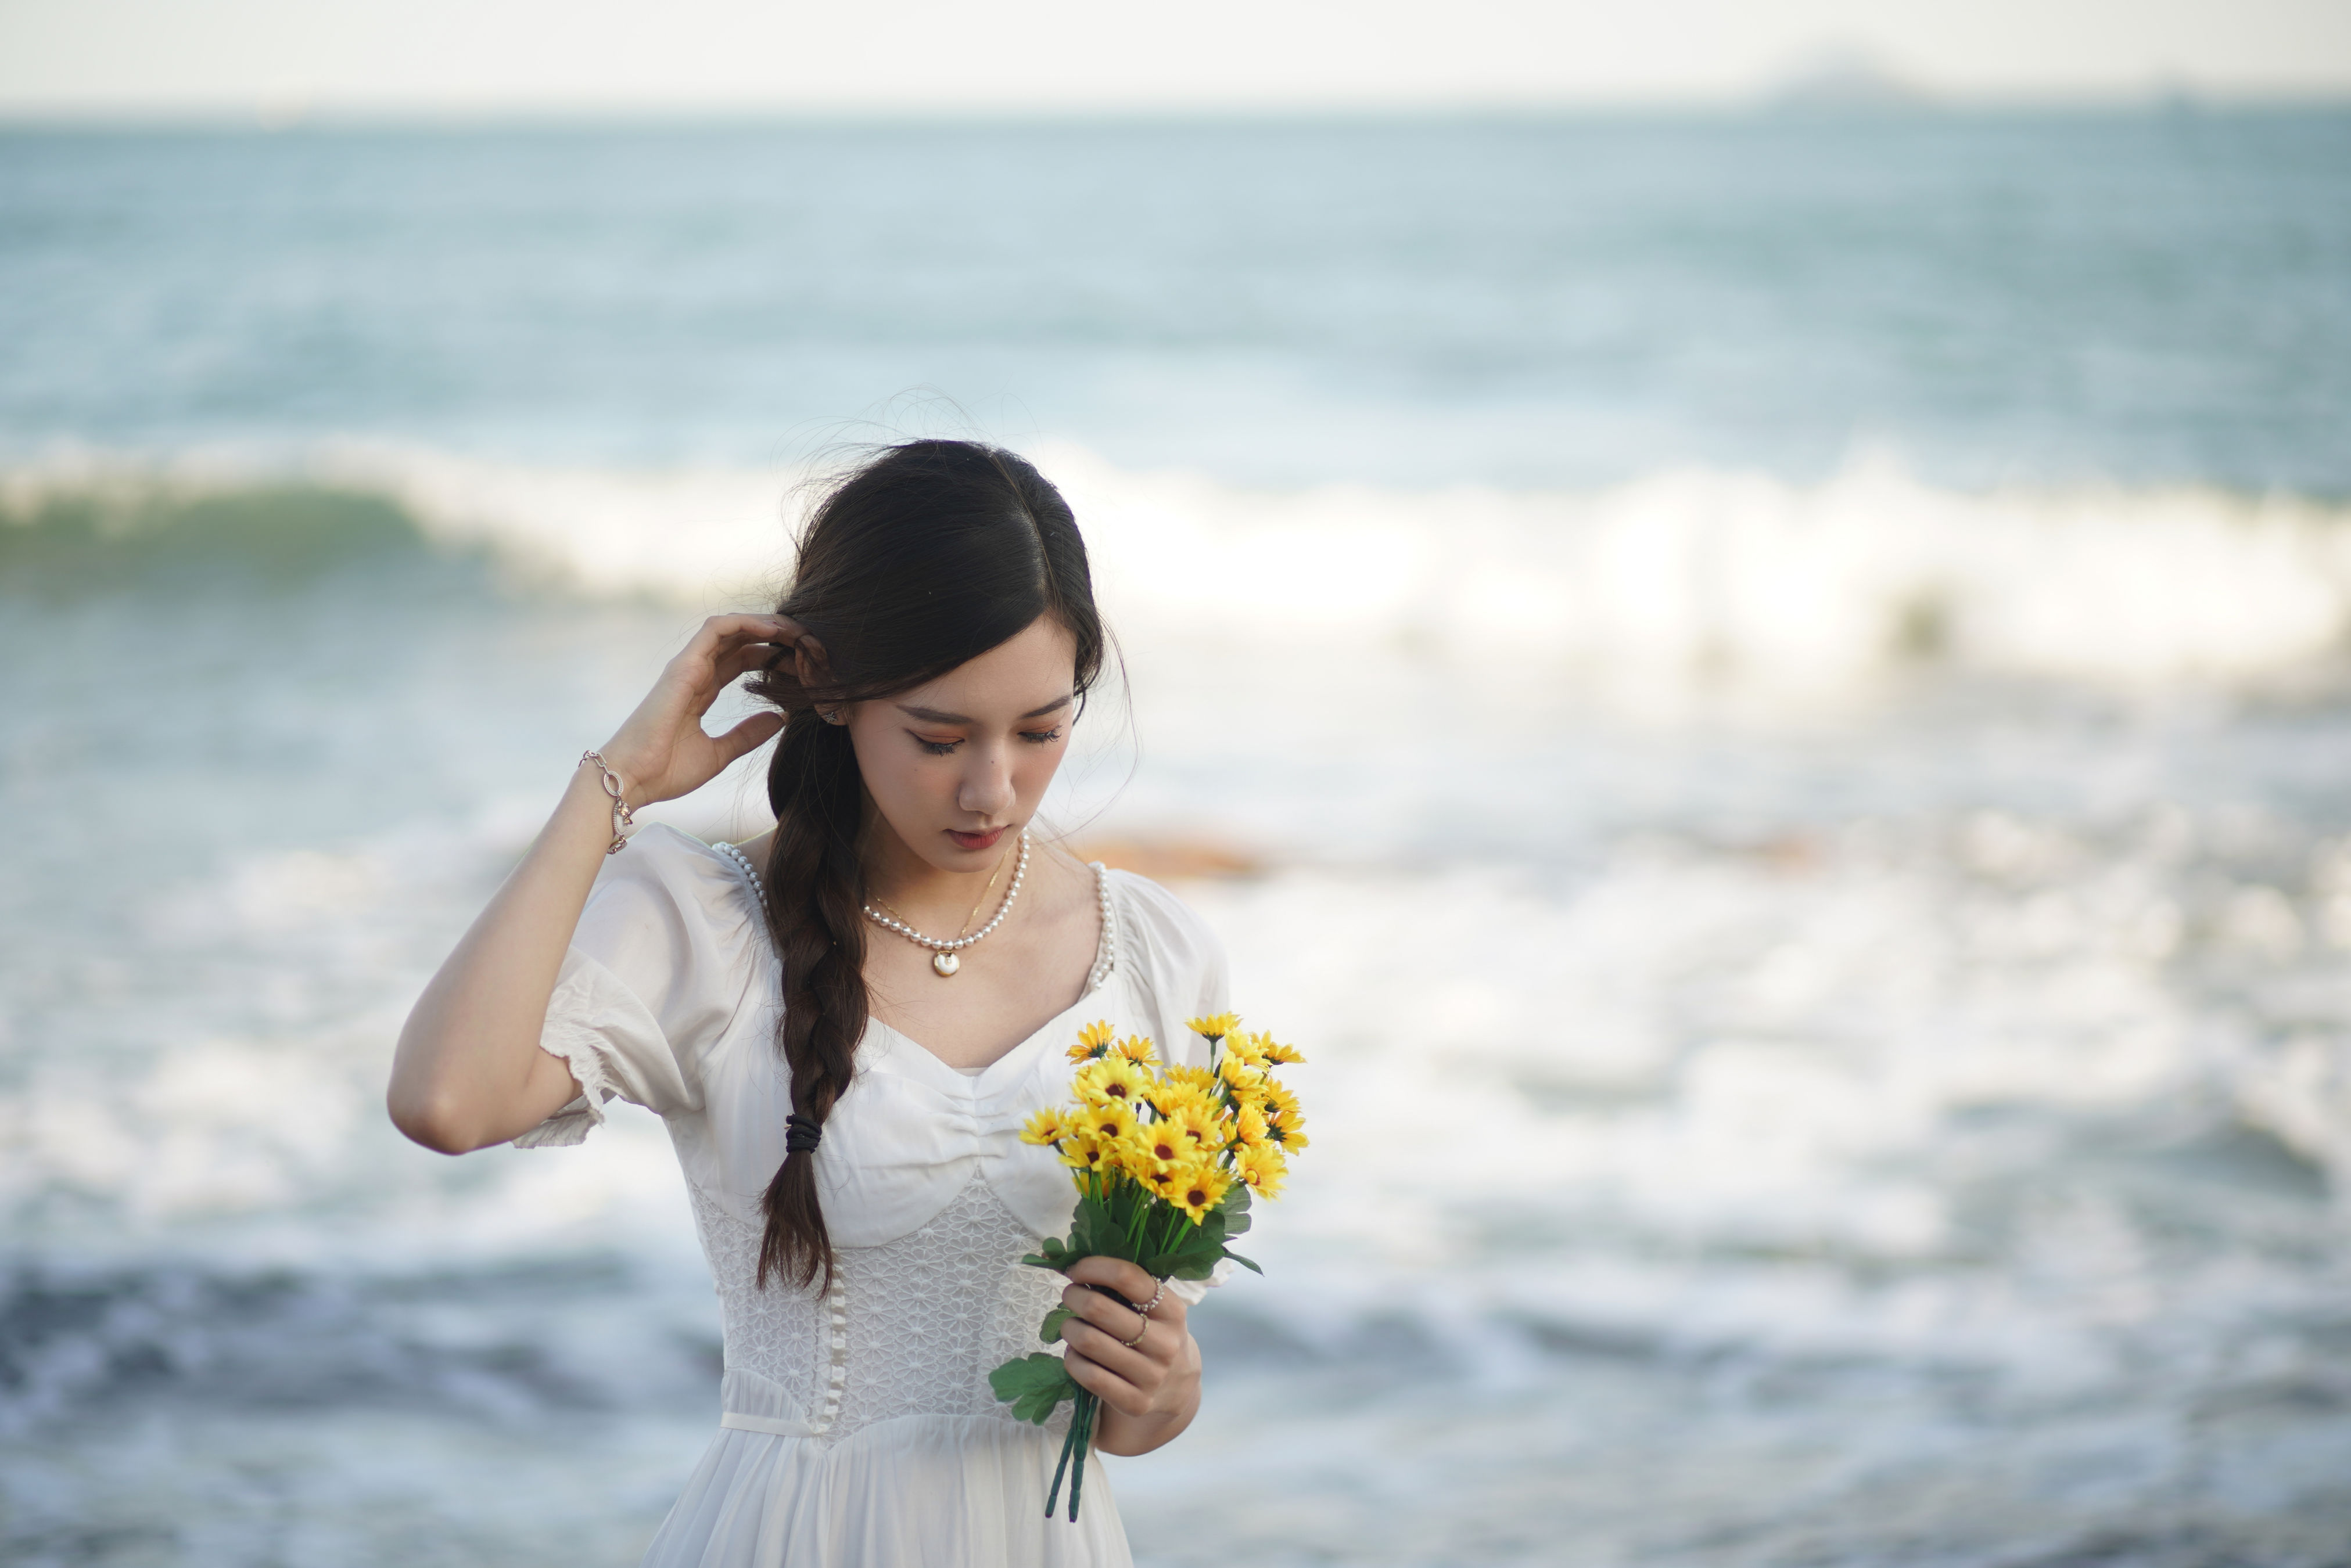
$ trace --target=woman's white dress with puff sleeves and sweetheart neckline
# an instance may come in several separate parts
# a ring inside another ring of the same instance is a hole
[[[1070,1406],[1039,1429],[987,1387],[994,1366],[1041,1349],[1037,1324],[1065,1284],[1020,1255],[1067,1232],[1077,1192],[1018,1133],[1067,1098],[1077,1030],[1107,1018],[1206,1065],[1183,1025],[1225,1009],[1225,957],[1199,917],[1143,877],[1096,879],[1103,938],[1084,994],[990,1067],[966,1074],[868,1027],[816,1152],[839,1255],[825,1293],[752,1284],[759,1194],[792,1110],[757,875],[670,827],[604,863],[541,1037],[583,1093],[515,1143],[578,1143],[618,1095],[661,1114],[686,1173],[724,1314],[722,1415],[649,1568],[1131,1561],[1100,1460],[1077,1523],[1067,1493],[1063,1516],[1044,1516]]]

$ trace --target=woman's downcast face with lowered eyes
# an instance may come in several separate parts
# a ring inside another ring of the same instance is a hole
[[[987,870],[1070,748],[1077,639],[1039,616],[933,682],[856,703],[849,741],[882,820],[943,872]]]

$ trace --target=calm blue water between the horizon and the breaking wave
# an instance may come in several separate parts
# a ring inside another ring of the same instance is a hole
[[[0,136],[0,437],[2351,489],[2351,113]]]

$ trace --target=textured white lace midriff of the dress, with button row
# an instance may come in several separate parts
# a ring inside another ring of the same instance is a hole
[[[759,1225],[694,1194],[726,1326],[726,1373],[773,1385],[806,1436],[842,1439],[896,1415],[999,1415],[987,1373],[1039,1347],[1058,1274],[1020,1262],[1034,1237],[973,1178],[943,1213],[882,1246],[837,1251],[820,1286],[755,1284]],[[764,1392],[764,1389],[762,1389]],[[783,1418],[792,1422],[790,1415]]]

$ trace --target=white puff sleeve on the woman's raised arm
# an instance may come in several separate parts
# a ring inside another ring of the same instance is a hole
[[[661,1117],[698,1112],[703,1056],[750,990],[752,940],[766,938],[736,875],[701,842],[651,827],[611,856],[538,1034],[538,1048],[571,1067],[581,1093],[515,1147],[581,1143],[611,1098]]]

